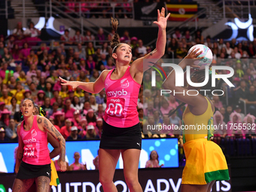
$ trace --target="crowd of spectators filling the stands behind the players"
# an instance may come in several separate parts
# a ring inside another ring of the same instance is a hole
[[[66,30],[59,39],[59,46],[50,50],[49,44],[40,42],[40,32],[34,29],[33,23],[30,26],[29,31],[24,32],[21,23],[18,23],[17,29],[14,29],[8,39],[0,36],[0,141],[17,141],[16,127],[22,120],[20,103],[24,98],[32,98],[36,105],[44,108],[46,117],[66,140],[100,139],[102,117],[106,107],[105,90],[99,94],[90,94],[80,88],[74,91],[72,87],[61,86],[59,77],[69,81],[93,82],[104,69],[114,69],[112,50],[109,46],[114,31],[105,34],[99,29],[98,34],[93,35],[90,31],[81,34],[77,30],[72,37],[69,30]],[[98,40],[96,44],[94,40]],[[133,60],[152,50],[151,47],[145,47],[142,39],[130,37],[128,30],[120,34],[120,41],[130,44]],[[33,48],[34,44],[40,45],[39,48]],[[211,37],[203,37],[200,30],[190,34],[189,30],[180,32],[175,29],[175,33],[167,37],[166,54],[163,58],[182,59],[194,44],[206,44],[212,50],[212,65],[230,66],[235,72],[233,77],[229,78],[235,87],[228,87],[222,81],[218,88],[224,91],[224,95],[209,96],[215,104],[214,123],[229,128],[233,123],[254,126],[256,40],[215,41]],[[151,87],[151,70],[145,72],[138,100],[142,127],[163,123],[181,126],[185,106],[168,117],[169,111],[177,108],[181,102],[171,95],[160,96],[157,89],[161,87],[162,82],[157,76],[156,87]],[[215,132],[215,136],[254,136],[254,129],[227,131],[226,128]],[[179,146],[182,148],[180,131],[148,132],[142,134],[142,137],[178,137]]]

